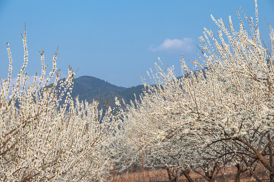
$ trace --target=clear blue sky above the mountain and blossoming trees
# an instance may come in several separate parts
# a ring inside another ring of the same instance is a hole
[[[13,77],[23,63],[20,33],[25,22],[29,76],[41,72],[39,51],[45,51],[51,66],[58,45],[57,68],[63,76],[72,65],[74,70],[80,67],[76,77],[90,75],[129,87],[142,84],[140,76],[147,77],[158,57],[165,65],[174,65],[180,76],[182,53],[190,60],[200,53],[196,45],[203,27],[217,32],[210,15],[226,23],[231,15],[238,25],[240,6],[248,16],[255,16],[252,0],[0,0],[0,77],[8,74],[7,42],[14,61]],[[258,9],[260,34],[267,43],[269,28],[264,18],[274,26],[274,1],[258,0]]]

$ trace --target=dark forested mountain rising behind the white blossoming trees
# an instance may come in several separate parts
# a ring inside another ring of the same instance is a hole
[[[99,101],[99,108],[105,108],[105,103],[110,106],[115,106],[115,97],[118,99],[124,99],[126,104],[129,104],[130,100],[134,100],[134,93],[139,99],[139,95],[143,93],[144,85],[132,86],[130,88],[116,86],[105,80],[95,78],[93,76],[81,76],[74,79],[74,86],[71,96],[76,98],[79,96],[79,100],[87,100],[89,103],[92,100]]]

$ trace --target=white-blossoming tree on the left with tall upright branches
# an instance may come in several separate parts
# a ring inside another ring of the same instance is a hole
[[[26,31],[23,37],[24,63],[16,84],[11,84],[12,56],[7,43],[10,67],[0,93],[0,180],[1,181],[91,181],[103,163],[96,154],[120,120],[120,103],[107,107],[105,115],[98,102],[73,100],[75,72],[60,79],[53,67],[46,76],[41,52],[41,76],[31,86],[25,68],[28,61]],[[53,80],[52,80],[53,79]],[[49,82],[53,82],[49,84]]]

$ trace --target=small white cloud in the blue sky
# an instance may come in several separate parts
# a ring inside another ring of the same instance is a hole
[[[183,40],[180,39],[169,39],[166,38],[163,43],[161,43],[157,48],[154,48],[155,45],[151,45],[149,50],[151,51],[181,51],[191,52],[194,48],[192,45],[192,38],[184,37]]]

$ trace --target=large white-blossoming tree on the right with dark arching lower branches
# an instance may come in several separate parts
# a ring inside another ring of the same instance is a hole
[[[148,90],[127,109],[132,138],[149,149],[151,165],[158,156],[158,164],[183,171],[208,166],[208,178],[214,166],[241,163],[262,181],[252,169],[261,164],[274,181],[274,31],[269,25],[267,48],[259,35],[256,1],[255,10],[255,23],[242,11],[249,29],[237,11],[239,31],[230,17],[228,27],[212,17],[220,30],[215,37],[204,28],[199,37],[202,56],[193,64],[200,71],[190,71],[182,60],[185,76],[156,64],[154,85],[144,79]]]

